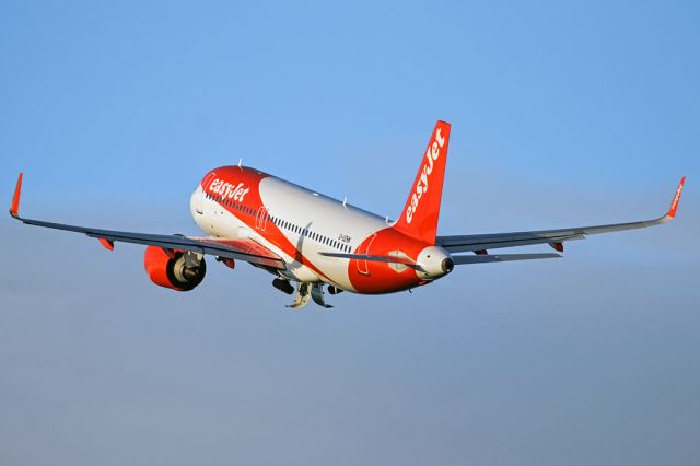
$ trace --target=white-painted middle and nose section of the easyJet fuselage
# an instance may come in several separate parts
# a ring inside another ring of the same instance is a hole
[[[249,220],[246,222],[242,212],[231,212],[218,200],[207,197],[201,186],[191,196],[192,218],[211,236],[250,238],[278,254],[288,265],[281,275],[291,280],[324,281],[355,291],[348,275],[349,259],[318,253],[351,253],[369,235],[389,226],[387,220],[273,176],[261,179],[258,191],[264,207],[255,212],[255,224]],[[243,203],[248,196],[244,197]],[[270,218],[260,210],[266,210]],[[323,273],[301,264],[270,241],[266,236],[270,222]]]

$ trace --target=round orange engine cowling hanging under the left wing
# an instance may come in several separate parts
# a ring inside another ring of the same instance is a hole
[[[174,251],[172,256],[162,247],[148,246],[143,255],[145,272],[153,283],[177,291],[189,291],[205,279],[205,258],[187,260],[185,252]]]

